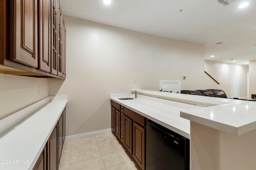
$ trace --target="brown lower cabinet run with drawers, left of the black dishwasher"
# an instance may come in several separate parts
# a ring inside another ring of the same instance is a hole
[[[121,108],[119,111],[116,108]],[[146,163],[146,118],[111,101],[111,128],[142,170]]]

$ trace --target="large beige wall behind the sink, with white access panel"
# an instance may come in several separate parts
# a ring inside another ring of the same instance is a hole
[[[215,87],[204,74],[202,46],[68,16],[64,20],[67,78],[49,80],[49,95],[68,95],[68,136],[109,129],[112,93],[159,90],[159,80],[181,80],[181,89]]]

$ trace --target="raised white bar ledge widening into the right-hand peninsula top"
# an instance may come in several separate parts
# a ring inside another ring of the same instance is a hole
[[[180,117],[232,135],[242,135],[248,131],[256,129],[256,102],[254,101],[176,94],[151,90],[137,90],[137,92],[157,98],[179,100],[180,102],[205,102],[206,106],[209,105],[209,107],[198,107],[197,109],[186,108],[180,110]],[[162,119],[160,119],[160,121],[162,121]],[[185,130],[187,131],[187,129]]]

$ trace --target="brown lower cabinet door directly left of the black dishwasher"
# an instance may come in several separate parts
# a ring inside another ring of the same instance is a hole
[[[145,169],[145,129],[133,122],[133,154],[132,156]]]

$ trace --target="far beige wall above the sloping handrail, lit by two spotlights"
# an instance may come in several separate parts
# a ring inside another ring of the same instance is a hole
[[[247,96],[248,67],[233,63],[205,61],[205,71],[220,83],[218,88],[224,90],[228,98]]]

